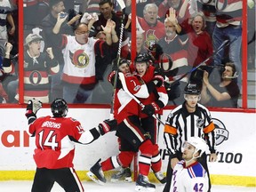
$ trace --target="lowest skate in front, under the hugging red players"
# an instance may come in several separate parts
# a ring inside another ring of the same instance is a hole
[[[154,192],[156,186],[148,181],[148,177],[139,174],[138,179],[136,180],[135,191],[140,192]]]

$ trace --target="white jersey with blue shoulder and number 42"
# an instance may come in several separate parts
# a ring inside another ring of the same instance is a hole
[[[175,165],[170,192],[206,191],[208,191],[208,176],[201,164],[196,162],[185,167],[185,162],[180,161]]]

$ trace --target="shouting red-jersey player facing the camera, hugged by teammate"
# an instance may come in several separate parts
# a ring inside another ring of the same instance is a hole
[[[158,147],[158,126],[156,118],[152,115],[161,116],[163,114],[163,108],[168,103],[168,95],[164,88],[164,75],[160,68],[155,68],[150,65],[151,57],[148,53],[138,54],[134,61],[134,67],[136,73],[141,76],[142,80],[148,84],[150,81],[162,79],[159,84],[156,84],[156,89],[150,92],[147,99],[140,99],[140,102],[145,105],[140,109],[140,122],[143,129],[149,133],[150,140],[153,143],[153,156],[151,159],[151,169],[153,170],[157,180],[161,183],[165,183],[165,177],[161,172],[162,159]]]

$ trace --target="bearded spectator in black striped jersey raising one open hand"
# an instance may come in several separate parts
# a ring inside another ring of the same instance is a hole
[[[164,20],[165,36],[158,42],[163,50],[159,66],[164,70],[164,75],[168,77],[169,84],[172,84],[190,69],[187,50],[188,35],[180,36],[176,32],[181,29],[176,17],[176,11],[170,8],[169,15]],[[180,90],[184,90],[187,83],[188,77],[184,76],[178,84],[173,84],[171,89],[167,89],[169,100],[175,105],[183,102],[183,98],[180,97]]]

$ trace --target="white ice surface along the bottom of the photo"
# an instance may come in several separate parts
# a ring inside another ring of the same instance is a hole
[[[0,181],[0,192],[29,192],[32,181]],[[111,183],[100,186],[92,181],[84,181],[84,192],[131,192],[135,191],[135,183]],[[156,192],[162,192],[164,185],[156,184]],[[237,186],[212,186],[212,192],[256,192],[256,188]],[[52,192],[64,192],[58,184],[54,185]]]

